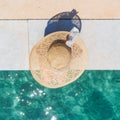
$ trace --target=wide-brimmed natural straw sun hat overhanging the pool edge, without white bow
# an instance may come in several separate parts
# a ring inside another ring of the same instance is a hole
[[[69,32],[51,33],[40,40],[30,54],[30,70],[35,80],[48,88],[58,88],[75,81],[87,65],[87,49],[81,39],[69,48]]]

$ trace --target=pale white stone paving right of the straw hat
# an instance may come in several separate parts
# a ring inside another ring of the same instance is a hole
[[[88,69],[120,69],[120,20],[82,23],[81,38],[88,48]]]

